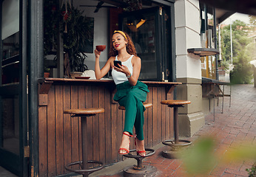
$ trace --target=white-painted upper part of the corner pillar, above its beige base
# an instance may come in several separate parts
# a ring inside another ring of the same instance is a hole
[[[177,78],[201,79],[201,60],[187,49],[201,47],[198,0],[175,1],[175,38]]]

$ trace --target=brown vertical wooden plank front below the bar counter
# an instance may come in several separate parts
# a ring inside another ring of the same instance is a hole
[[[168,94],[167,99],[173,98]],[[145,146],[153,147],[173,136],[173,111],[166,105],[165,86],[149,86],[146,102],[152,103],[144,115]],[[81,160],[81,118],[63,114],[70,108],[104,108],[104,114],[87,118],[88,159],[112,164],[122,160],[118,155],[124,127],[124,111],[112,103],[109,86],[67,86],[53,84],[48,94],[39,95],[38,142],[39,176],[69,173],[66,164]],[[170,137],[171,136],[171,137]],[[135,148],[131,139],[130,149]]]

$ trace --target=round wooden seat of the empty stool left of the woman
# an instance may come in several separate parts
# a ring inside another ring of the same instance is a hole
[[[77,108],[63,111],[64,114],[75,114],[78,116],[92,116],[95,114],[104,113],[104,108]]]

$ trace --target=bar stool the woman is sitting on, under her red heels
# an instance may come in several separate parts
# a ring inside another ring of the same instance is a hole
[[[152,103],[143,103],[145,108],[150,108],[152,107]],[[124,106],[119,105],[118,109],[125,110]],[[128,154],[124,154],[123,156],[127,158],[134,158],[137,160],[137,165],[132,165],[129,167],[124,168],[124,177],[130,177],[130,176],[136,176],[136,177],[144,177],[144,176],[155,176],[155,173],[157,172],[156,167],[153,167],[151,165],[143,165],[142,160],[148,156],[152,156],[155,154],[155,150],[145,148],[146,156],[138,156],[136,154],[136,150],[129,150]],[[133,154],[134,153],[134,154]]]

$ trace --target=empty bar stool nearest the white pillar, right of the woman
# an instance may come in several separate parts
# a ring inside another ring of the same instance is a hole
[[[169,147],[171,147],[170,150],[166,150],[163,151],[162,154],[164,157],[168,158],[168,159],[177,159],[178,156],[176,155],[176,153],[178,152],[178,150],[181,149],[181,147],[185,147],[188,145],[191,145],[192,142],[190,142],[189,140],[185,140],[185,139],[179,139],[178,137],[178,108],[179,107],[184,107],[183,105],[187,105],[190,104],[190,101],[187,100],[163,100],[161,101],[162,105],[168,105],[168,107],[170,108],[174,108],[174,136],[175,139],[174,140],[165,140],[164,142],[162,142],[164,145],[168,145]]]

